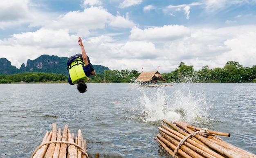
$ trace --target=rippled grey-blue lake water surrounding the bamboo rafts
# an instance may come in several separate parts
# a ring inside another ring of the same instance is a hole
[[[155,140],[163,118],[231,133],[221,138],[256,154],[256,83],[87,85],[80,94],[66,83],[0,84],[0,158],[30,157],[52,123],[81,129],[90,157],[165,158]]]

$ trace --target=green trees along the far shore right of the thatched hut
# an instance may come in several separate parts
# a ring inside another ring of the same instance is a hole
[[[183,62],[170,73],[163,73],[166,82],[256,82],[256,66],[243,67],[237,61],[228,61],[223,68],[209,69],[203,66],[194,71],[193,66],[186,66]]]

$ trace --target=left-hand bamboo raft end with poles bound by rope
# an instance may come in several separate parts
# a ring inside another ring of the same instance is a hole
[[[99,153],[95,158],[99,157]],[[52,124],[52,131],[46,131],[42,143],[36,148],[31,158],[89,158],[86,153],[86,140],[83,139],[81,129],[78,130],[76,138],[70,133],[68,125],[61,129]]]

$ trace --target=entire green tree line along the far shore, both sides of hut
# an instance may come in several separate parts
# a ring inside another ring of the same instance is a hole
[[[104,70],[104,74],[96,73],[90,76],[91,83],[134,83],[140,73],[137,70]],[[167,83],[184,82],[256,82],[256,66],[243,67],[237,61],[228,61],[223,68],[209,69],[203,66],[195,71],[193,66],[180,62],[178,68],[162,76]],[[61,82],[67,83],[68,76],[45,72],[24,72],[13,75],[0,75],[0,83],[17,83],[20,81],[33,82]]]

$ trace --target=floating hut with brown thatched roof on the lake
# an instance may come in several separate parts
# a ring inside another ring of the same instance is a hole
[[[141,72],[137,77],[137,82],[165,81],[164,77],[158,71]]]

